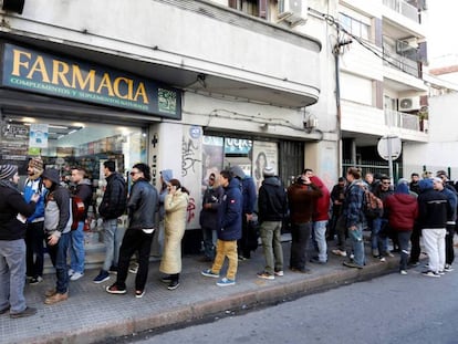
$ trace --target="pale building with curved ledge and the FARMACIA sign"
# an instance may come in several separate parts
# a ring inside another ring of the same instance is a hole
[[[266,165],[285,184],[310,166],[332,185],[335,30],[324,13],[336,3],[3,0],[0,160],[24,175],[40,155],[63,181],[83,166],[97,200],[106,159],[126,179],[147,161],[157,187],[171,169],[191,192],[188,233],[208,175],[230,165],[258,186]]]

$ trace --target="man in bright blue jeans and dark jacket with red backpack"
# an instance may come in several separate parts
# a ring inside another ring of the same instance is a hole
[[[92,202],[92,184],[91,180],[84,178],[86,171],[84,168],[72,169],[72,181],[76,185],[74,195],[79,196],[84,202],[84,215],[77,222],[77,228],[71,231],[70,244],[70,270],[71,281],[76,281],[84,275],[84,222],[87,217],[87,209]]]

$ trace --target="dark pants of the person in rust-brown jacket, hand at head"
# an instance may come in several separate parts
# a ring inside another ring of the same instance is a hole
[[[312,222],[292,223],[290,269],[304,270]]]

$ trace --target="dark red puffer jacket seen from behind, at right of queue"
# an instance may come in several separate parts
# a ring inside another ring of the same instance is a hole
[[[385,199],[389,227],[398,231],[413,230],[418,217],[418,202],[414,196],[394,194]]]

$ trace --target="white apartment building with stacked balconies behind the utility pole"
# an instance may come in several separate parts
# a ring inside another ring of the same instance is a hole
[[[341,129],[344,166],[388,174],[377,143],[428,142],[426,1],[339,1]],[[397,164],[396,164],[397,163]],[[379,167],[376,167],[381,165]],[[394,175],[402,175],[403,156]]]

